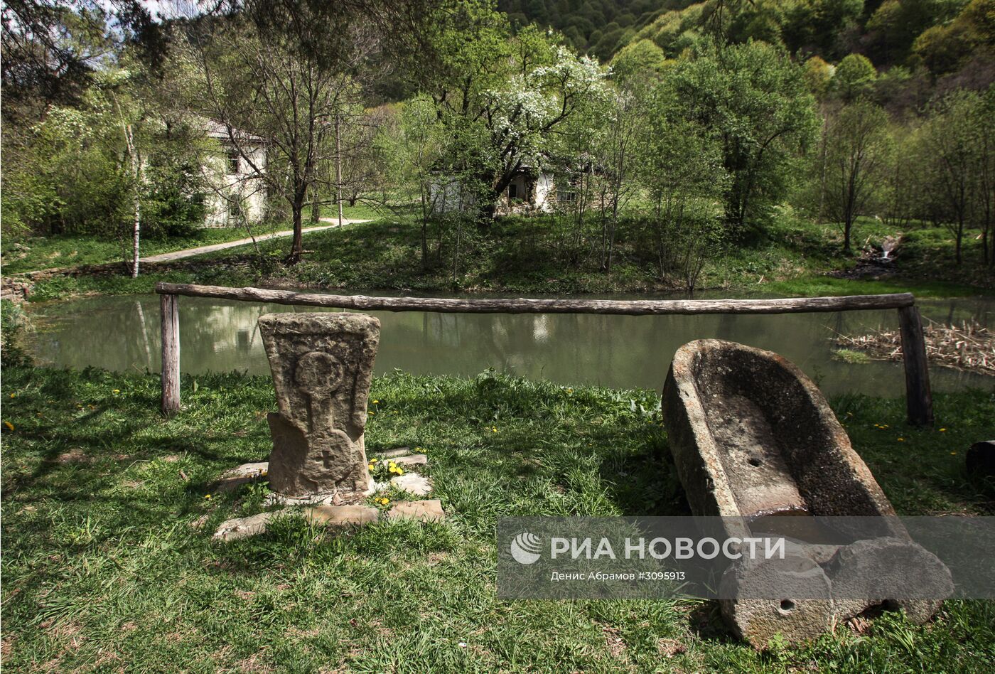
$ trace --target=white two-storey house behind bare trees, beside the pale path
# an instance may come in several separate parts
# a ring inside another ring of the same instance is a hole
[[[218,151],[203,167],[208,192],[205,227],[239,227],[266,215],[266,143],[263,138],[217,121],[205,121]]]

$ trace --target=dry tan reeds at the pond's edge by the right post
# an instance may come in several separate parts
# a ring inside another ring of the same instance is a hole
[[[995,333],[976,321],[959,326],[947,326],[926,320],[923,335],[926,357],[946,367],[965,372],[995,376]],[[844,348],[863,351],[872,358],[901,359],[901,335],[898,331],[881,330],[871,335],[841,335],[836,343]]]

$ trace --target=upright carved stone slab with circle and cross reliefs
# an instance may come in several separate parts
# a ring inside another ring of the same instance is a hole
[[[365,493],[366,402],[380,322],[365,314],[259,320],[277,389],[270,486],[288,496]]]

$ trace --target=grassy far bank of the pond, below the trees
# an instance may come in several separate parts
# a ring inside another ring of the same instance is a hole
[[[368,209],[367,209],[368,210]],[[350,216],[376,216],[350,211]],[[629,223],[627,226],[634,226]],[[398,293],[490,292],[520,295],[660,293],[681,290],[660,279],[645,252],[623,231],[610,274],[590,251],[570,252],[560,245],[561,225],[549,217],[504,218],[487,231],[466,232],[454,275],[452,241],[430,231],[428,268],[421,262],[420,226],[408,215],[380,214],[375,222],[305,236],[304,259],[289,267],[283,260],[290,239],[214,253],[168,271],[151,270],[132,281],[120,276],[60,277],[39,283],[36,299],[81,293],[148,292],[156,281],[231,286],[306,287],[328,290],[380,290]],[[857,241],[880,243],[896,234],[877,221],[861,222]],[[841,252],[839,232],[785,213],[763,235],[728,246],[708,260],[699,290],[727,294],[781,296],[859,295],[911,291],[920,297],[958,297],[991,293],[995,277],[981,264],[981,244],[965,239],[964,263],[954,264],[953,238],[942,228],[904,234],[895,274],[882,280],[828,276],[858,264]]]

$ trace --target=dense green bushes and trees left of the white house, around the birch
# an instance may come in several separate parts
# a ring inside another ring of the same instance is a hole
[[[189,235],[203,223],[204,139],[189,121],[156,113],[144,77],[101,70],[77,107],[54,107],[33,127],[15,129],[14,138],[4,130],[5,148],[14,149],[3,168],[3,205],[11,216],[5,234],[125,239],[136,191],[152,236]],[[137,185],[134,162],[144,171]]]

